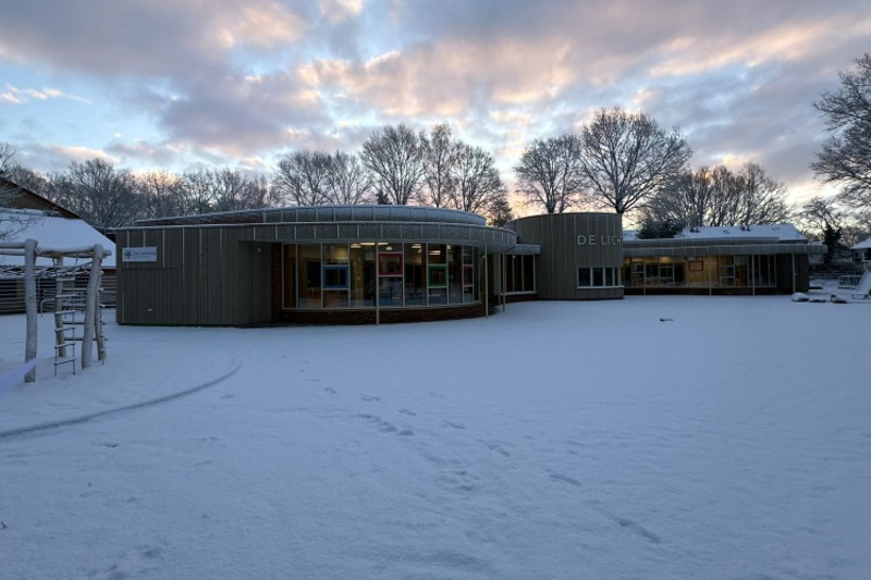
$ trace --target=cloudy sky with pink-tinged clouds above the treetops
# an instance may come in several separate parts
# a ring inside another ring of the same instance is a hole
[[[1,0],[0,141],[26,166],[271,172],[294,149],[451,124],[503,176],[600,108],[756,161],[797,202],[813,109],[871,50],[867,0]]]

